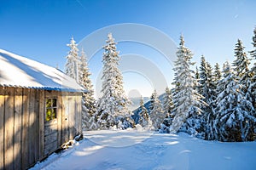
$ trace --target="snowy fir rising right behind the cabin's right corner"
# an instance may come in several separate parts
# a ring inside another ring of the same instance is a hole
[[[96,100],[94,99],[94,90],[90,81],[90,71],[87,63],[87,57],[82,48],[79,57],[79,84],[87,90],[82,97],[82,127],[84,130],[97,129],[95,121]]]

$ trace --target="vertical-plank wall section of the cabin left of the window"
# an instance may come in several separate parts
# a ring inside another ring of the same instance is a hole
[[[0,87],[0,169],[26,169],[38,161],[38,92]]]

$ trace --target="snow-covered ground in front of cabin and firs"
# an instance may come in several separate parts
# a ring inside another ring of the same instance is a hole
[[[136,130],[84,132],[72,149],[31,169],[256,169],[256,142],[221,143]]]

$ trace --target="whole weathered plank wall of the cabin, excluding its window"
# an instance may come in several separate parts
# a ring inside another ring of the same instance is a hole
[[[45,121],[45,100],[57,99],[57,116]],[[0,87],[0,169],[26,169],[81,130],[81,94]]]

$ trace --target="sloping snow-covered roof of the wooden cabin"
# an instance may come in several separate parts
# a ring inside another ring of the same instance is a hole
[[[84,91],[84,88],[62,71],[3,49],[0,49],[0,86]]]

